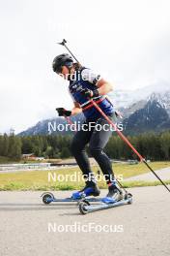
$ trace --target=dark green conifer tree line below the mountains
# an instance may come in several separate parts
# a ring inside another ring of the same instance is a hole
[[[128,136],[128,140],[146,159],[170,160],[170,131]],[[0,156],[19,160],[22,154],[34,153],[44,158],[68,158],[71,157],[70,145],[71,135],[18,137],[4,134],[0,136]],[[112,159],[137,159],[117,135],[112,135],[104,151]]]

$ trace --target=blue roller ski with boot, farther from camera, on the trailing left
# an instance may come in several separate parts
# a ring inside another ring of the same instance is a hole
[[[96,183],[87,181],[85,187],[77,192],[72,193],[69,198],[56,198],[51,192],[44,192],[42,194],[42,203],[48,205],[52,202],[55,203],[67,203],[67,202],[100,202],[99,187]]]

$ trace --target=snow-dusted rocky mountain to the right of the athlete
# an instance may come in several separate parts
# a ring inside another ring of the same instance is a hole
[[[122,109],[124,130],[130,133],[170,129],[170,88]]]

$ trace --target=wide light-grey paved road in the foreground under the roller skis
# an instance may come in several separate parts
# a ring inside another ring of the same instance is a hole
[[[169,256],[170,194],[162,186],[129,191],[132,205],[88,215],[80,215],[74,204],[44,206],[41,192],[0,192],[0,255]],[[75,223],[112,225],[112,231],[123,232],[48,232],[48,225],[66,230]]]

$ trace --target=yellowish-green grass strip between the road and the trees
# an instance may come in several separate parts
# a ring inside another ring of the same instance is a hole
[[[154,170],[165,168],[170,166],[170,162],[153,162],[150,163]],[[94,168],[94,172],[97,173],[97,168]],[[130,176],[137,176],[150,172],[149,169],[142,163],[137,165],[128,164],[114,164],[114,171],[117,177],[122,175],[124,178]],[[23,171],[17,173],[0,174],[0,190],[73,190],[80,189],[84,185],[84,181],[50,181],[48,182],[48,173],[52,175],[69,175],[76,173],[81,177],[81,172],[78,168],[58,169],[56,171]],[[169,184],[170,181],[167,181]],[[125,181],[123,184],[126,187],[133,186],[148,186],[158,185],[159,182],[144,182],[144,181]],[[106,188],[105,182],[99,181],[100,188]]]

